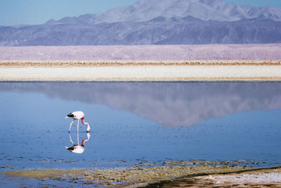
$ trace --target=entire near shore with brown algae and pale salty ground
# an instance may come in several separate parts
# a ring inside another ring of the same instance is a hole
[[[143,163],[109,169],[20,170],[4,174],[98,187],[281,186],[281,167],[253,169],[245,164],[245,161],[166,161],[162,165]]]

